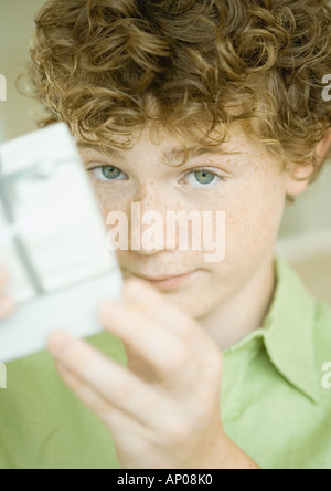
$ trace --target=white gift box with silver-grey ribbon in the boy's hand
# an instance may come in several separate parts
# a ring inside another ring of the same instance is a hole
[[[55,328],[102,331],[104,299],[121,296],[116,253],[72,135],[52,125],[0,147],[0,263],[19,306],[0,322],[0,361],[45,348]]]

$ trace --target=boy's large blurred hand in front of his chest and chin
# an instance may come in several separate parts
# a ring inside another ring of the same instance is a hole
[[[221,421],[222,356],[200,325],[149,283],[99,307],[124,343],[128,368],[86,342],[53,334],[50,352],[68,387],[108,427],[122,468],[228,467],[234,443]]]

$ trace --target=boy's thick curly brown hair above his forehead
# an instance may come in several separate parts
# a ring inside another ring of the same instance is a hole
[[[285,166],[323,163],[331,123],[327,0],[46,0],[30,74],[49,109],[86,143],[126,148],[153,121],[220,145],[232,123]]]

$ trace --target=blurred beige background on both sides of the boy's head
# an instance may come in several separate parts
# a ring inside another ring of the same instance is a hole
[[[35,129],[38,105],[15,90],[29,59],[35,12],[43,0],[0,0],[0,74],[8,101],[0,102],[0,140]],[[331,302],[331,163],[318,182],[289,206],[281,227],[279,254],[288,258],[313,292]]]

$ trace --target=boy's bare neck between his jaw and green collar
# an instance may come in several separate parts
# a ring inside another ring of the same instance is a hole
[[[263,326],[274,299],[276,281],[273,251],[239,291],[199,320],[222,352]]]

